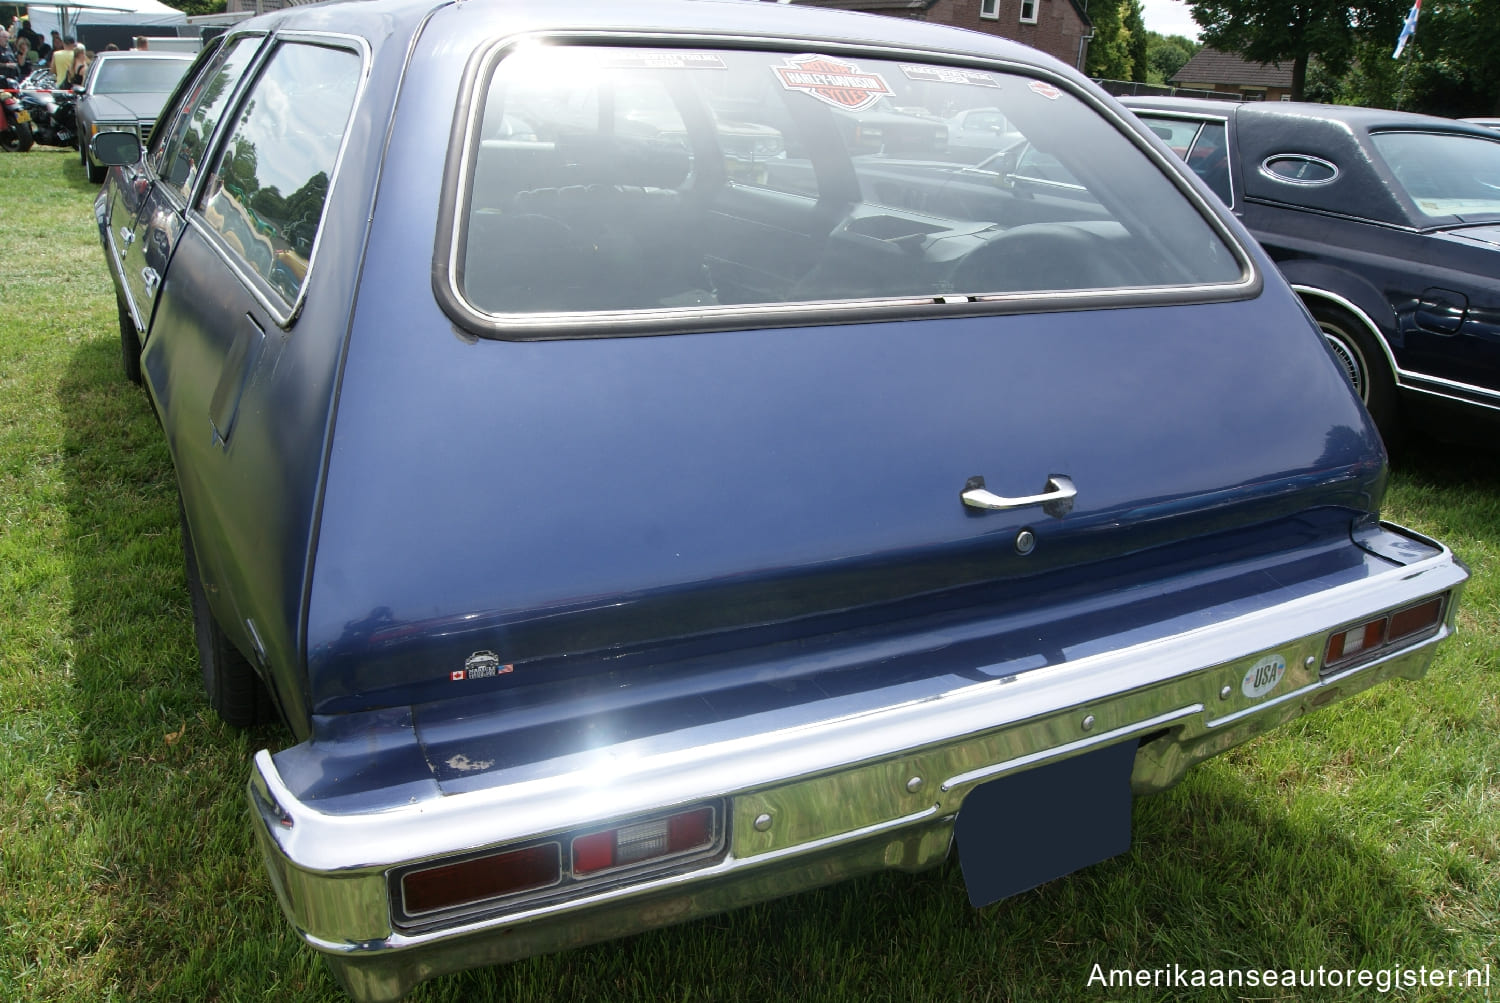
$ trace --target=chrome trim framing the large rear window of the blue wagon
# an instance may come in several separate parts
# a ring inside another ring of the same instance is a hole
[[[1104,117],[1116,132],[1134,144],[1164,178],[1188,196],[1198,216],[1239,264],[1234,282],[1184,283],[1164,286],[1131,286],[1125,289],[1053,289],[1038,292],[1002,292],[968,295],[874,297],[862,300],[802,300],[796,303],[758,303],[735,306],[660,307],[646,310],[576,310],[548,313],[494,313],[482,310],[464,295],[458,280],[458,262],[466,235],[470,165],[477,135],[480,88],[504,55],[526,43],[603,45],[603,46],[668,46],[668,48],[729,48],[770,52],[806,52],[814,48],[830,55],[880,60],[921,60],[938,66],[963,66],[1012,73],[1059,87],[1088,108]],[[753,330],[774,324],[813,327],[819,324],[856,324],[897,319],[930,319],[963,313],[1032,313],[1060,310],[1092,310],[1128,306],[1168,306],[1182,303],[1221,303],[1258,295],[1263,279],[1256,259],[1220,219],[1216,196],[1212,202],[1200,198],[1184,174],[1186,166],[1170,153],[1164,157],[1144,136],[1134,115],[1120,115],[1110,105],[1078,88],[1072,79],[1046,67],[975,52],[940,52],[922,48],[858,45],[816,37],[742,36],[678,31],[600,31],[550,30],[504,34],[471,58],[459,85],[459,114],[448,138],[447,160],[440,195],[438,226],[434,250],[432,288],[442,310],[459,327],[480,337],[498,340],[567,340],[590,337],[642,337],[678,333],[723,330]],[[968,307],[968,309],[964,309]]]

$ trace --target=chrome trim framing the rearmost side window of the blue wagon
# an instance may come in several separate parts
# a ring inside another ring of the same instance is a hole
[[[250,67],[244,73],[244,81],[238,85],[238,93],[230,105],[232,112],[226,112],[219,126],[214,129],[214,135],[210,142],[212,154],[208,157],[210,163],[214,166],[218,166],[219,156],[224,151],[224,144],[228,142],[232,132],[232,126],[226,123],[238,121],[240,109],[244,105],[246,97],[255,90],[255,84],[260,82],[267,63],[274,58],[276,51],[282,43],[316,45],[321,48],[344,49],[346,52],[354,52],[360,60],[360,76],[354,87],[354,100],[350,103],[350,118],[344,123],[344,136],[339,139],[339,151],[333,157],[333,168],[328,171],[328,193],[322,201],[322,214],[318,217],[318,235],[312,241],[312,253],[308,255],[308,271],[303,274],[302,285],[297,288],[296,301],[288,303],[260,273],[246,268],[246,262],[243,262],[238,255],[230,249],[230,246],[219,235],[219,231],[204,219],[202,210],[198,208],[198,202],[202,198],[202,192],[207,187],[213,171],[200,171],[194,181],[190,196],[192,208],[188,210],[188,225],[194,226],[200,234],[208,237],[208,246],[212,246],[218,252],[219,258],[230,265],[230,270],[236,274],[240,283],[250,291],[250,295],[272,318],[272,322],[285,331],[296,324],[297,316],[302,313],[303,303],[308,298],[308,286],[310,285],[314,268],[318,264],[318,249],[322,244],[322,223],[327,219],[328,204],[333,201],[334,190],[338,190],[339,177],[342,177],[342,171],[339,168],[344,165],[344,157],[350,147],[348,123],[352,121],[354,114],[358,111],[360,100],[364,96],[364,88],[369,85],[370,46],[368,40],[357,34],[344,34],[339,31],[272,31],[268,37],[270,45],[264,45],[255,55],[255,61],[250,63]],[[225,42],[225,45],[228,43],[230,40]]]

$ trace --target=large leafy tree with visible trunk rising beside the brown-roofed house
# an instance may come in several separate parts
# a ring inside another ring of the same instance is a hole
[[[1252,63],[1292,63],[1292,99],[1306,90],[1314,55],[1341,76],[1354,54],[1356,37],[1389,30],[1407,10],[1406,0],[1186,0],[1203,27],[1204,45],[1239,52]]]

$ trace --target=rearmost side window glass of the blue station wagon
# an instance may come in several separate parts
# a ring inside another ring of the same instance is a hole
[[[204,189],[204,222],[288,303],[308,274],[358,81],[360,57],[348,49],[280,45]]]

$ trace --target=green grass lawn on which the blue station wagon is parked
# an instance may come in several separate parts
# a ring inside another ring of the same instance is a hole
[[[338,1000],[255,850],[250,754],[206,709],[171,468],[120,378],[75,156],[0,154],[0,1000]],[[1388,999],[1106,990],[1102,969],[1492,966],[1500,1000],[1500,459],[1414,448],[1388,516],[1474,579],[1426,681],[1136,805],[1131,853],[972,910],[952,864],[444,978],[459,1000]]]

